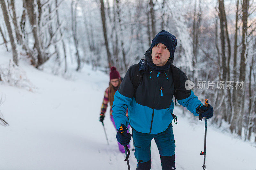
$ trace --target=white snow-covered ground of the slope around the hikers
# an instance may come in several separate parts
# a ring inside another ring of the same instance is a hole
[[[12,55],[0,51],[1,67]],[[20,61],[20,68],[36,89],[30,92],[0,83],[0,95],[6,96],[0,110],[10,124],[0,126],[1,170],[128,169],[125,155],[118,150],[109,109],[104,120],[109,145],[99,122],[108,75],[92,71],[88,65],[74,71],[70,80],[37,70],[24,61]],[[202,169],[203,156],[199,153],[204,149],[204,121],[195,123],[189,114],[182,116],[178,107],[174,112],[178,117],[178,124],[173,125],[176,169]],[[211,125],[207,128],[206,152],[207,170],[256,169],[255,147]],[[151,157],[151,169],[161,169],[153,140]],[[129,161],[131,169],[136,169],[134,151]]]

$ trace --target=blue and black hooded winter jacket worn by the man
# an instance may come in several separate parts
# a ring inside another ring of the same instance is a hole
[[[147,51],[145,58],[149,60],[151,54]],[[138,67],[139,64],[139,67]],[[116,129],[120,124],[132,127],[141,133],[157,134],[168,128],[173,120],[172,112],[174,103],[174,84],[171,69],[164,72],[154,71],[148,67],[147,62],[141,60],[140,63],[132,65],[115,93],[112,106]],[[132,84],[135,77],[135,69],[139,68],[143,75],[139,86],[134,89]],[[186,90],[185,81],[187,76],[180,69],[180,87],[175,93],[178,103],[186,107],[194,115],[196,107],[203,105],[192,90]],[[129,120],[126,117],[128,108]]]

